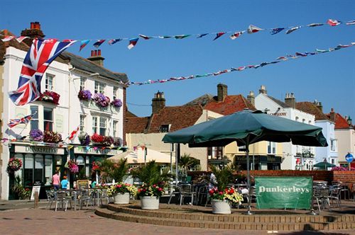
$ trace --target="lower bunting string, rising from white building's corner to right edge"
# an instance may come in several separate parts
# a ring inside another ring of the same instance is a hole
[[[351,42],[351,44],[349,45],[337,45],[337,47],[334,48],[329,48],[328,50],[319,50],[316,49],[314,52],[296,52],[295,55],[285,55],[282,57],[278,57],[276,58],[274,61],[272,62],[262,62],[261,64],[256,64],[256,65],[246,65],[246,66],[241,66],[241,67],[235,67],[235,68],[231,68],[231,69],[224,69],[224,70],[219,70],[216,72],[212,72],[212,73],[208,73],[208,74],[196,74],[196,75],[190,75],[190,76],[178,76],[178,77],[172,77],[170,79],[162,79],[162,80],[148,80],[148,81],[131,81],[129,82],[129,85],[146,85],[146,84],[157,84],[157,83],[165,83],[168,81],[182,81],[185,79],[197,79],[197,78],[202,78],[202,77],[207,77],[207,76],[218,76],[221,74],[226,74],[226,73],[230,73],[232,71],[244,71],[245,69],[258,69],[260,67],[265,67],[266,65],[269,64],[278,64],[280,62],[286,62],[289,61],[291,59],[299,59],[302,57],[308,57],[311,55],[320,55],[326,52],[334,52],[336,50],[340,50],[343,48],[348,48],[348,47],[352,47],[355,45],[355,42]]]

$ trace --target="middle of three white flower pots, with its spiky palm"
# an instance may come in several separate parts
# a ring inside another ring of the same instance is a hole
[[[158,210],[159,198],[168,187],[168,182],[173,177],[169,168],[160,169],[155,161],[149,161],[146,165],[131,171],[134,178],[139,178],[143,185],[138,188],[138,196],[141,200],[141,209]]]

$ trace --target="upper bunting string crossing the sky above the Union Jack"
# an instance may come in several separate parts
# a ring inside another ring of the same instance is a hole
[[[249,27],[246,30],[233,30],[233,31],[224,31],[221,30],[219,32],[215,33],[195,33],[195,34],[183,34],[183,35],[154,35],[154,36],[148,36],[148,35],[143,35],[143,34],[138,34],[136,37],[123,37],[123,38],[110,38],[110,39],[83,39],[83,40],[77,40],[80,41],[80,50],[81,51],[84,47],[86,47],[89,42],[94,41],[93,46],[94,47],[99,47],[101,46],[104,42],[107,42],[109,45],[114,45],[116,42],[121,42],[124,40],[129,40],[129,45],[127,46],[129,50],[131,50],[133,47],[135,47],[138,43],[138,40],[141,38],[143,40],[151,40],[151,39],[169,39],[169,38],[174,38],[174,39],[185,39],[185,38],[204,38],[207,35],[214,35],[213,40],[217,40],[218,38],[221,38],[223,35],[228,34],[229,38],[231,40],[235,40],[236,38],[241,37],[241,35],[244,35],[244,33],[252,34],[252,33],[257,33],[259,31],[263,30],[268,30],[271,35],[275,35],[280,33],[281,31],[285,31],[286,34],[293,33],[295,30],[299,30],[300,28],[315,28],[319,27],[322,25],[330,25],[330,26],[337,26],[341,25],[342,23],[345,23],[345,25],[355,25],[355,21],[338,21],[336,19],[328,19],[326,23],[309,23],[307,25],[296,25],[296,26],[289,26],[289,27],[278,27],[278,28],[259,28],[255,25],[249,25]],[[16,37],[12,35],[6,35],[2,41],[7,42],[9,40],[16,39],[18,42],[22,42],[25,38],[24,36]]]

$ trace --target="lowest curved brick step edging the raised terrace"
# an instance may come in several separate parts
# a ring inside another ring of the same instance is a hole
[[[116,207],[117,208],[117,207]],[[112,209],[112,208],[111,208]],[[245,230],[273,230],[273,231],[303,231],[303,230],[331,230],[331,229],[355,229],[355,222],[331,222],[331,223],[255,223],[255,222],[227,222],[200,219],[176,219],[169,217],[151,217],[152,212],[143,211],[146,214],[129,214],[116,212],[108,208],[97,208],[96,214],[102,217],[117,219],[125,222],[165,225],[173,227],[192,227],[204,229],[245,229]],[[215,215],[214,215],[215,216]],[[218,216],[217,216],[218,217]]]

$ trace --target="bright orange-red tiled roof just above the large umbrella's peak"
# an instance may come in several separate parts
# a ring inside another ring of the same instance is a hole
[[[244,96],[226,96],[224,101],[211,100],[207,105],[204,106],[205,109],[211,110],[222,115],[229,115],[232,113],[244,110],[244,108],[249,108],[250,110],[256,110],[254,105],[252,105]]]

